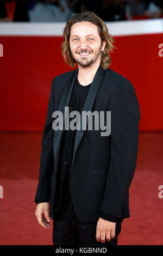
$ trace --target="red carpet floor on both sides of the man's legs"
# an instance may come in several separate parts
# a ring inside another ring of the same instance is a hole
[[[0,245],[53,245],[52,227],[35,217],[41,133],[0,133]],[[137,166],[130,186],[130,215],[122,223],[119,245],[163,245],[163,132],[140,133]]]

